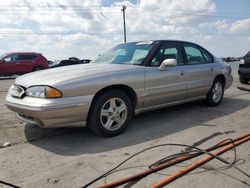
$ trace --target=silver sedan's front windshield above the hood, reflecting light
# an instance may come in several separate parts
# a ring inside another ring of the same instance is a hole
[[[153,46],[153,42],[120,44],[91,63],[142,65]]]

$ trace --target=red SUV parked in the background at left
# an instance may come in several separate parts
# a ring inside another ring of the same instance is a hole
[[[47,69],[47,59],[35,52],[13,52],[0,57],[0,75],[25,74]]]

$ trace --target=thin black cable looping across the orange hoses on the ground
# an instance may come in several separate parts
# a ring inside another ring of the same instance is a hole
[[[210,152],[207,152],[207,151],[205,151],[205,150],[203,150],[203,149],[200,149],[200,148],[197,148],[197,147],[194,147],[194,146],[190,146],[190,145],[186,145],[186,144],[159,144],[159,145],[155,145],[155,146],[151,146],[151,147],[145,148],[145,149],[143,149],[143,150],[141,150],[141,151],[139,151],[139,152],[133,154],[132,156],[128,157],[127,159],[125,159],[124,161],[122,161],[121,163],[119,163],[117,166],[115,166],[114,168],[112,168],[111,170],[109,170],[109,171],[107,171],[106,173],[100,175],[99,177],[95,178],[95,179],[92,180],[91,182],[87,183],[87,184],[84,185],[82,188],[86,188],[86,187],[92,185],[93,183],[95,183],[96,181],[98,181],[98,180],[100,180],[100,179],[102,179],[102,178],[104,178],[104,177],[106,177],[106,176],[112,174],[112,172],[113,172],[114,170],[116,170],[117,168],[119,168],[121,165],[123,165],[124,163],[126,163],[127,161],[129,161],[130,159],[132,159],[133,157],[135,157],[135,156],[137,156],[137,155],[139,155],[139,154],[141,154],[141,153],[143,153],[143,152],[145,152],[145,151],[148,151],[148,150],[150,150],[150,149],[157,148],[157,147],[163,147],[163,146],[187,147],[187,148],[191,148],[192,150],[187,151],[187,152],[176,153],[176,154],[167,156],[167,157],[165,157],[165,158],[163,158],[163,159],[160,159],[160,160],[156,161],[155,163],[149,165],[149,168],[153,167],[154,165],[157,165],[157,162],[160,162],[160,163],[163,162],[164,159],[166,159],[165,162],[167,162],[167,161],[171,161],[171,160],[175,159],[176,157],[180,157],[180,156],[198,156],[198,155],[200,155],[200,154],[208,154],[208,155],[210,155],[210,156],[216,158],[217,160],[219,160],[219,161],[221,161],[221,162],[223,162],[223,163],[225,163],[225,164],[230,165],[230,167],[231,167],[231,166],[234,167],[234,163],[236,162],[236,147],[235,147],[234,141],[233,141],[232,139],[223,140],[222,142],[220,142],[220,143],[218,143],[218,144],[212,146],[211,149],[216,148],[218,145],[220,145],[221,143],[223,143],[223,142],[225,142],[225,141],[228,141],[228,140],[230,140],[231,143],[233,144],[234,160],[233,160],[232,163],[228,162],[227,160],[225,160],[225,159],[223,159],[223,158],[221,158],[221,157],[218,157],[217,155],[214,155],[214,154],[212,154],[212,153],[210,153]],[[194,150],[194,149],[195,149],[195,150]],[[159,165],[160,165],[160,164],[159,164]],[[236,169],[237,169],[237,168],[236,168]],[[239,170],[239,169],[237,169],[237,170]],[[242,170],[239,170],[239,171],[241,172]],[[248,175],[247,173],[244,172],[243,174],[245,174],[246,176],[249,177],[249,175]]]

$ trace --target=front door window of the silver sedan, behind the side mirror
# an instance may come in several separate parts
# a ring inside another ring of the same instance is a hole
[[[177,65],[184,64],[180,46],[178,43],[167,42],[165,45],[162,45],[153,60],[151,61],[150,65],[160,66],[162,61],[164,61],[165,59],[176,59]]]

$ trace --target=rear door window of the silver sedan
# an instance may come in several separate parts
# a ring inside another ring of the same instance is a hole
[[[203,64],[206,63],[201,51],[198,47],[192,44],[184,44],[188,64]]]

